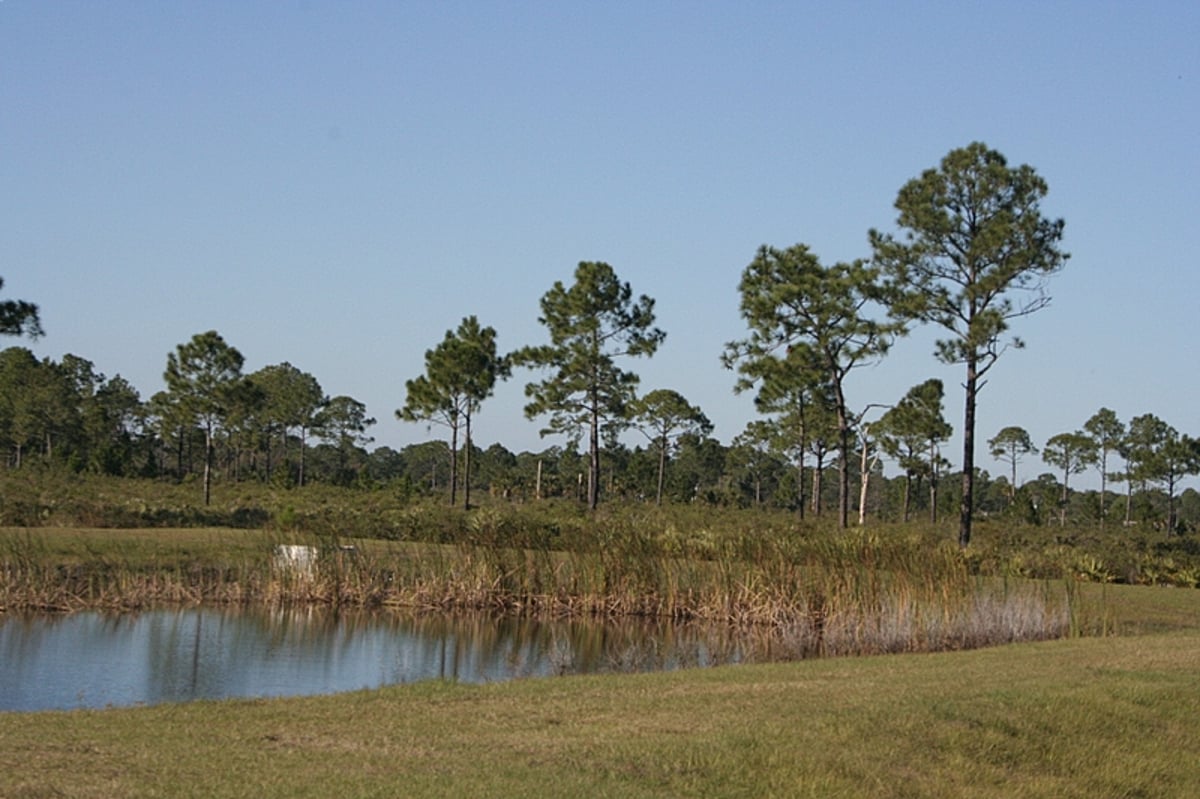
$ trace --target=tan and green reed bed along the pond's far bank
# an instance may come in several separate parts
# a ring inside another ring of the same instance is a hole
[[[974,576],[956,547],[920,535],[680,530],[628,515],[577,524],[557,546],[514,546],[504,522],[479,515],[451,543],[245,531],[233,552],[173,548],[167,534],[152,545],[64,534],[52,546],[41,531],[10,531],[0,534],[0,611],[258,602],[643,618],[770,630],[788,657],[1090,631],[1069,583]],[[281,561],[283,543],[312,560]]]

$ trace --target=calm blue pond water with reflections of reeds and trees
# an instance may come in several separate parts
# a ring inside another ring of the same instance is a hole
[[[334,693],[770,659],[730,630],[323,609],[0,615],[0,711]]]

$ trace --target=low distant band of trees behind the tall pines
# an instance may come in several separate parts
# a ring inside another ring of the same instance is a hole
[[[398,451],[388,446],[368,449],[367,429],[374,421],[366,416],[365,407],[350,397],[326,397],[314,378],[288,364],[264,367],[239,385],[229,394],[220,423],[214,426],[214,479],[281,488],[319,482],[386,489],[413,499],[449,498],[451,458],[446,441],[431,440]],[[0,352],[0,445],[4,465],[10,470],[52,467],[167,481],[198,479],[204,469],[206,431],[198,417],[182,411],[181,404],[169,391],[143,401],[124,378],[108,378],[76,355],[54,361],[38,360],[20,347]],[[1133,426],[1133,432],[1144,433],[1146,426],[1142,421]],[[997,437],[994,447],[1010,439],[1009,431]],[[1128,439],[1126,433],[1122,440]],[[960,499],[961,480],[956,474],[947,471],[941,476],[936,492],[930,491],[928,475],[916,464],[888,477],[883,474],[886,453],[881,450],[876,456],[877,444],[872,438],[868,446],[862,509],[865,517],[901,521],[906,513],[928,518],[935,511],[942,517],[953,516]],[[498,443],[473,445],[469,459],[462,457],[462,449],[458,461],[470,465],[469,474],[460,469],[460,488],[469,479],[470,486],[492,501],[587,499],[589,459],[576,446],[512,452]],[[1032,451],[1036,447],[1024,450]],[[1136,447],[1122,444],[1122,451],[1136,457]],[[1013,457],[1012,446],[1008,452]],[[1018,459],[1020,455],[1018,451]],[[828,515],[838,505],[836,453],[822,458],[827,462],[820,468],[812,457],[810,451],[802,471],[796,457],[774,451],[766,440],[738,437],[722,444],[708,435],[680,435],[665,459],[662,499],[671,504]],[[1148,457],[1142,461],[1146,468],[1153,462]],[[599,485],[604,498],[655,500],[660,452],[652,441],[647,446],[610,441],[601,464]],[[862,475],[857,468],[853,471],[853,495],[863,497]],[[980,470],[974,503],[980,515],[1004,515],[1022,523],[1092,523],[1099,521],[1103,507],[1114,523],[1123,521],[1128,512],[1130,522],[1159,527],[1168,523],[1169,505],[1174,504],[1180,531],[1200,524],[1200,493],[1189,488],[1169,503],[1165,483],[1145,470],[1134,474],[1144,476],[1135,477],[1133,491],[1105,492],[1102,505],[1097,491],[1068,489],[1064,499],[1062,480],[1050,473],[1014,491],[1010,477]]]

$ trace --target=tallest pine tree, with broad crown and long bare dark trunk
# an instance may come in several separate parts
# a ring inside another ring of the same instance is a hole
[[[1042,215],[1046,191],[1032,167],[1010,168],[1000,152],[974,142],[900,188],[895,208],[905,239],[870,232],[875,262],[894,289],[893,311],[942,328],[948,337],[938,341],[937,358],[966,366],[960,546],[970,543],[974,512],[982,378],[1004,349],[1022,346],[1002,336],[1013,319],[1049,304],[1044,281],[1068,258],[1058,248],[1063,221]]]

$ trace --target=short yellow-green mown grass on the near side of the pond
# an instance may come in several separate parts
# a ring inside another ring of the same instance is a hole
[[[1120,635],[0,714],[0,797],[1198,797],[1200,591],[1103,599]]]

